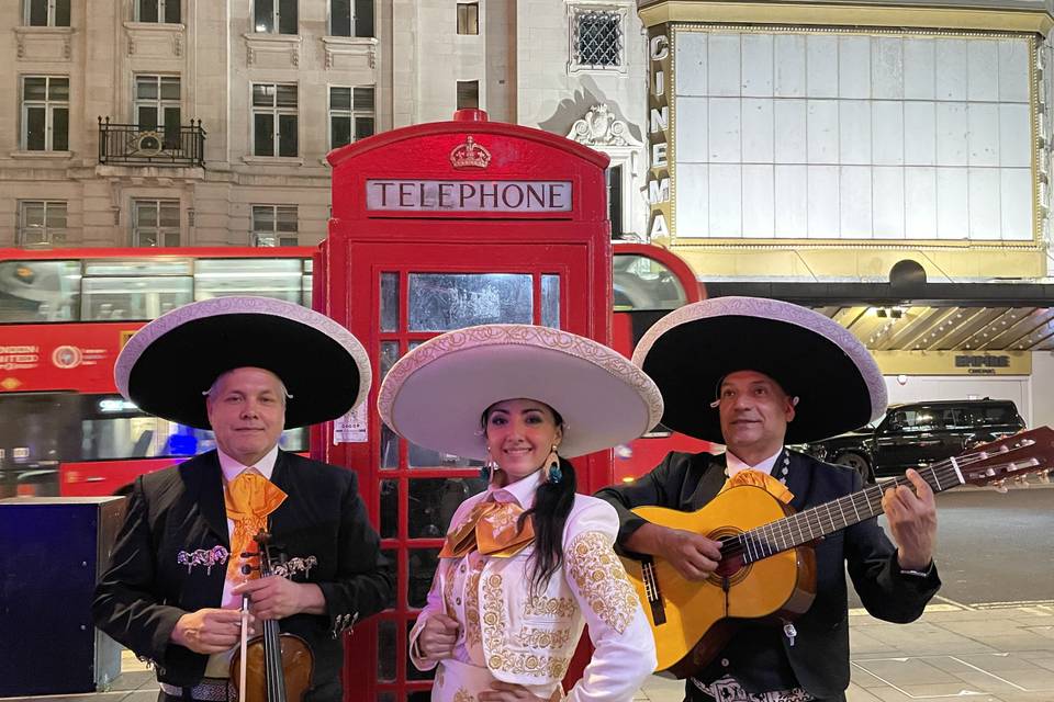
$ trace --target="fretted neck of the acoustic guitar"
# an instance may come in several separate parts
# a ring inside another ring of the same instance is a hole
[[[952,461],[934,463],[920,469],[919,474],[933,492],[964,484],[958,467]],[[752,563],[816,541],[881,514],[883,492],[899,485],[911,486],[907,478],[895,478],[728,537],[721,544],[721,554],[742,554],[747,563]]]

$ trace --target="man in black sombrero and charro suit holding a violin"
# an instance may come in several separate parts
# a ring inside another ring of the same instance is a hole
[[[384,608],[392,575],[356,473],[278,444],[366,398],[362,346],[299,305],[222,297],[148,324],[114,374],[216,448],[135,480],[96,624],[153,664],[162,702],[339,701],[341,634]]]

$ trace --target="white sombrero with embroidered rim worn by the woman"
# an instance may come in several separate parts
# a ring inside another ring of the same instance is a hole
[[[530,325],[483,325],[428,340],[388,372],[378,410],[419,446],[484,460],[483,411],[518,398],[560,412],[564,457],[631,441],[662,416],[659,388],[627,358],[592,339]]]

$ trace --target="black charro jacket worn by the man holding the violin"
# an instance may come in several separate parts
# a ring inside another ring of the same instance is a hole
[[[326,614],[295,614],[282,632],[307,642],[315,666],[309,701],[340,699],[344,646],[340,633],[379,612],[392,592],[379,537],[367,520],[352,471],[279,451],[271,480],[289,496],[269,519],[272,543],[290,558],[314,556],[307,574],[325,596]],[[96,588],[96,625],[141,658],[158,680],[193,686],[208,656],[169,641],[187,612],[218,607],[226,566],[188,570],[180,552],[229,548],[223,477],[215,451],[135,480],[127,517],[109,569]]]

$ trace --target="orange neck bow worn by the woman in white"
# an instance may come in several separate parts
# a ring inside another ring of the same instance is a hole
[[[447,534],[440,558],[460,558],[473,550],[484,556],[511,558],[535,540],[535,525],[516,502],[480,502],[468,519]]]

